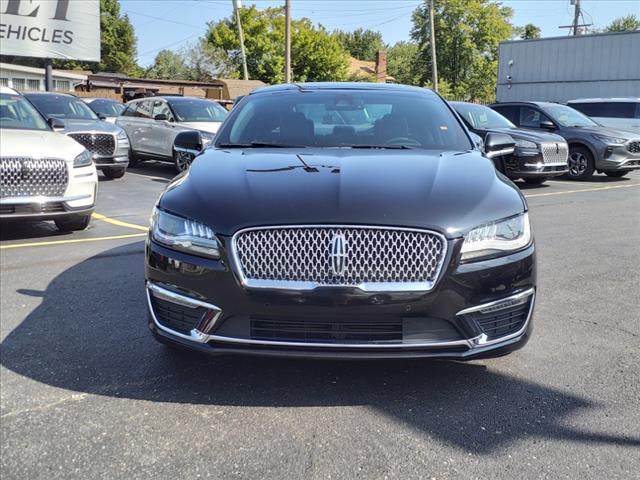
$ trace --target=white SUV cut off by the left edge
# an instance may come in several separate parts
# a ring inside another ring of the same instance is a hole
[[[58,132],[21,94],[0,87],[0,220],[53,220],[84,230],[98,175],[91,153]]]

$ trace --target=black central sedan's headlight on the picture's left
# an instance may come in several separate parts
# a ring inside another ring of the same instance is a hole
[[[151,237],[174,250],[220,258],[220,246],[213,230],[202,223],[171,215],[158,208],[154,208],[151,216]]]

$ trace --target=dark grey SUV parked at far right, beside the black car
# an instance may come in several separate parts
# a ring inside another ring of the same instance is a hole
[[[569,144],[567,177],[586,180],[594,172],[622,177],[640,168],[640,134],[603,127],[558,103],[506,102],[491,105],[520,128],[557,133]]]

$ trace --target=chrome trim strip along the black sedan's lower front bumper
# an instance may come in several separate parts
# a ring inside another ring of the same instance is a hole
[[[210,335],[202,332],[198,328],[194,328],[189,332],[189,335],[185,335],[184,333],[176,332],[170,328],[162,325],[155,316],[153,311],[153,305],[151,303],[151,295],[153,294],[157,298],[161,298],[163,300],[174,302],[179,305],[185,307],[203,307],[210,310],[216,311],[215,318],[208,325],[207,331],[211,331],[215,322],[220,318],[222,314],[222,310],[220,307],[213,305],[211,303],[203,302],[201,300],[197,300],[191,297],[187,297],[185,295],[181,295],[175,293],[171,290],[167,290],[166,288],[162,288],[150,281],[147,281],[147,304],[149,306],[149,311],[151,313],[151,318],[155,324],[155,326],[162,330],[163,332],[169,333],[176,337],[182,338],[184,340],[189,340],[196,343],[207,343],[210,341],[214,342],[222,342],[222,343],[230,343],[235,345],[260,345],[260,346],[273,346],[273,347],[294,347],[294,348],[327,348],[327,349],[416,349],[416,348],[449,348],[449,347],[467,347],[470,350],[474,348],[484,348],[487,346],[496,345],[502,342],[507,342],[513,338],[524,335],[527,327],[529,326],[529,321],[531,320],[531,314],[533,313],[533,305],[535,303],[535,289],[530,288],[525,290],[524,292],[517,293],[515,295],[511,295],[509,297],[496,300],[494,302],[485,303],[482,305],[477,305],[475,307],[471,307],[465,310],[461,310],[457,315],[461,315],[464,313],[471,313],[476,311],[498,311],[504,308],[509,308],[514,305],[518,305],[521,303],[525,303],[528,301],[529,297],[533,295],[531,299],[531,306],[529,307],[529,313],[527,314],[527,320],[524,323],[523,327],[515,333],[510,335],[500,337],[493,340],[488,340],[485,334],[478,335],[474,338],[463,339],[463,340],[454,340],[449,342],[424,342],[424,343],[395,343],[395,344],[382,344],[382,345],[372,345],[372,344],[335,344],[335,343],[305,343],[305,342],[278,342],[278,341],[270,341],[270,340],[251,340],[251,339],[243,339],[243,338],[233,338],[233,337],[224,337],[220,335]]]

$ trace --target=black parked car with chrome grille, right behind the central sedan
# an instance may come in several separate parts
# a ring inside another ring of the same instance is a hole
[[[522,178],[528,184],[541,184],[548,178],[567,172],[569,147],[560,135],[516,128],[508,119],[484,105],[449,102],[467,128],[482,140],[489,133],[506,133],[514,139],[511,155],[493,158],[496,168],[512,180]]]

